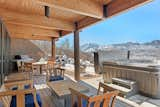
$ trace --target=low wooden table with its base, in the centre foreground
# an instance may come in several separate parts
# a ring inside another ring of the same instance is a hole
[[[69,88],[82,93],[89,92],[88,87],[70,79],[47,82],[47,85],[53,94],[56,107],[71,107],[71,92]]]

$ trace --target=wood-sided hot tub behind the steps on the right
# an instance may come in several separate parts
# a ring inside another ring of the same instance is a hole
[[[112,78],[124,78],[137,82],[138,91],[152,98],[160,98],[160,67],[137,67],[103,63],[104,82],[111,82]]]

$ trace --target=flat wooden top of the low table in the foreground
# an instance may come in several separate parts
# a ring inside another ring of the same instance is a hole
[[[58,97],[63,97],[65,95],[71,94],[69,88],[73,88],[79,92],[88,92],[89,89],[79,83],[72,80],[61,80],[48,82],[47,85],[54,91]]]

